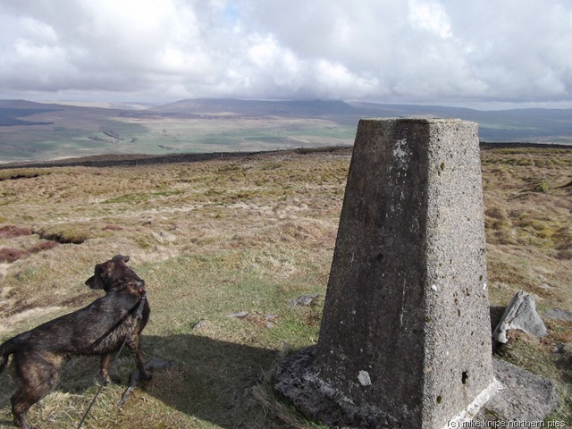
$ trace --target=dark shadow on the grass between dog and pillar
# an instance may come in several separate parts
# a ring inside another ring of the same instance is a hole
[[[147,356],[174,363],[154,371],[144,386],[148,394],[214,425],[267,427],[269,417],[253,400],[252,388],[273,367],[278,351],[191,334],[144,336],[143,341]]]

